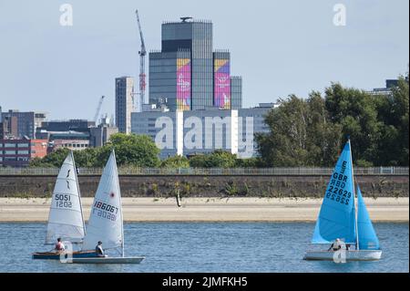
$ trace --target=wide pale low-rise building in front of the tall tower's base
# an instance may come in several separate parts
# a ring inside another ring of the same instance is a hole
[[[276,104],[251,109],[204,109],[131,114],[132,132],[155,141],[160,158],[174,155],[230,151],[241,158],[257,155],[254,134],[269,132],[264,116]]]

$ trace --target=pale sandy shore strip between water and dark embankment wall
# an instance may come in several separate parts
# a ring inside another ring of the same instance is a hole
[[[83,198],[86,218],[93,199]],[[123,198],[128,222],[314,222],[322,199]],[[408,198],[366,198],[374,222],[408,222]],[[0,198],[0,222],[46,222],[50,199]]]

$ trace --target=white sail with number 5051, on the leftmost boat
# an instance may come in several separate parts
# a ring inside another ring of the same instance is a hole
[[[70,152],[56,179],[48,216],[46,244],[55,244],[58,237],[63,241],[79,243],[84,234],[77,171],[73,153]]]

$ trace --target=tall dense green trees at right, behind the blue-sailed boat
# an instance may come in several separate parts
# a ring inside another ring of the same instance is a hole
[[[408,166],[408,73],[391,94],[369,94],[333,83],[324,95],[295,95],[266,116],[268,134],[256,134],[266,166],[332,167],[347,136],[357,166]]]

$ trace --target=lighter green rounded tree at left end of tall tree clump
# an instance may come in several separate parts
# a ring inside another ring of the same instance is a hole
[[[261,159],[269,166],[329,166],[340,150],[340,127],[335,126],[318,92],[309,99],[281,99],[265,122],[268,134],[256,134]]]

